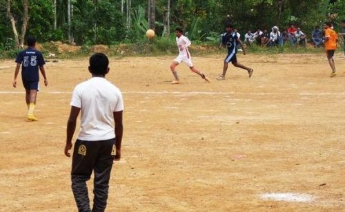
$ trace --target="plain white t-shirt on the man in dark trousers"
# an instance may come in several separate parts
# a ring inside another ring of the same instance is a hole
[[[75,87],[70,105],[81,109],[79,140],[115,138],[114,112],[124,110],[120,90],[106,78],[92,77]]]

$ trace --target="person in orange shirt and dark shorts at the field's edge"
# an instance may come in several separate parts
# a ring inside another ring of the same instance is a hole
[[[335,33],[334,30],[332,30],[332,23],[326,22],[324,23],[324,29],[325,29],[325,49],[326,49],[326,55],[328,59],[329,65],[331,65],[332,73],[331,77],[334,77],[335,74],[335,64],[333,60],[334,52],[337,49],[337,33]]]

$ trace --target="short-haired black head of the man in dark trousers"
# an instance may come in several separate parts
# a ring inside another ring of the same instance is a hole
[[[95,53],[90,56],[89,70],[92,74],[106,75],[108,72],[109,60],[106,54]]]

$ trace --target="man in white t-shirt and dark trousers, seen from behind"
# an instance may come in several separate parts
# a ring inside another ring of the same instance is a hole
[[[92,78],[75,87],[67,123],[65,155],[72,148],[77,117],[81,125],[72,157],[72,191],[79,211],[91,211],[86,181],[95,174],[92,211],[104,211],[113,160],[121,158],[124,101],[120,90],[106,80],[109,61],[105,54],[90,57]]]

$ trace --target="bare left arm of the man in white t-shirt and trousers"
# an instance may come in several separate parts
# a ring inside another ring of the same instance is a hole
[[[70,157],[70,153],[68,152],[72,149],[72,138],[73,134],[75,134],[75,127],[77,125],[77,118],[79,116],[80,108],[72,106],[70,108],[70,117],[67,121],[67,138],[66,138],[66,147],[65,147],[65,155]]]

